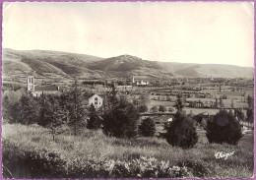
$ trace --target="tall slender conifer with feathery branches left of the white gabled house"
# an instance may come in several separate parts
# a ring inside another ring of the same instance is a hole
[[[78,89],[77,80],[74,83],[74,89],[69,92],[70,99],[68,104],[68,111],[70,114],[68,125],[73,129],[76,136],[81,128],[86,124],[86,107],[83,103],[83,95]]]

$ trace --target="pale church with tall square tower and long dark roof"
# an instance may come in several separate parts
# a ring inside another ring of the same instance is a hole
[[[33,96],[39,96],[42,93],[44,94],[53,94],[59,92],[59,87],[57,86],[35,86],[33,76],[28,77],[28,92],[32,93]]]

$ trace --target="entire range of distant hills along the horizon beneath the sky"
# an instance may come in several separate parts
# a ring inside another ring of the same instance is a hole
[[[173,76],[213,78],[253,78],[254,69],[232,65],[188,64],[143,60],[131,55],[103,59],[59,51],[3,49],[4,77],[35,75],[58,80],[76,76],[90,78],[171,78]]]

